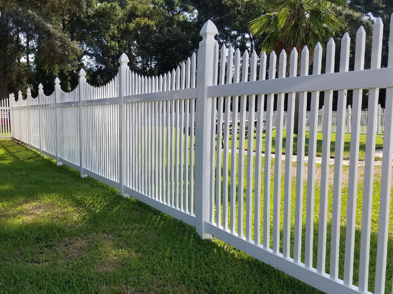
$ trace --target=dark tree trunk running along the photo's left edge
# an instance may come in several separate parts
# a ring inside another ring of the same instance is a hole
[[[6,5],[0,8],[0,99],[8,96],[7,81],[7,49],[9,42],[8,32],[8,7]]]

